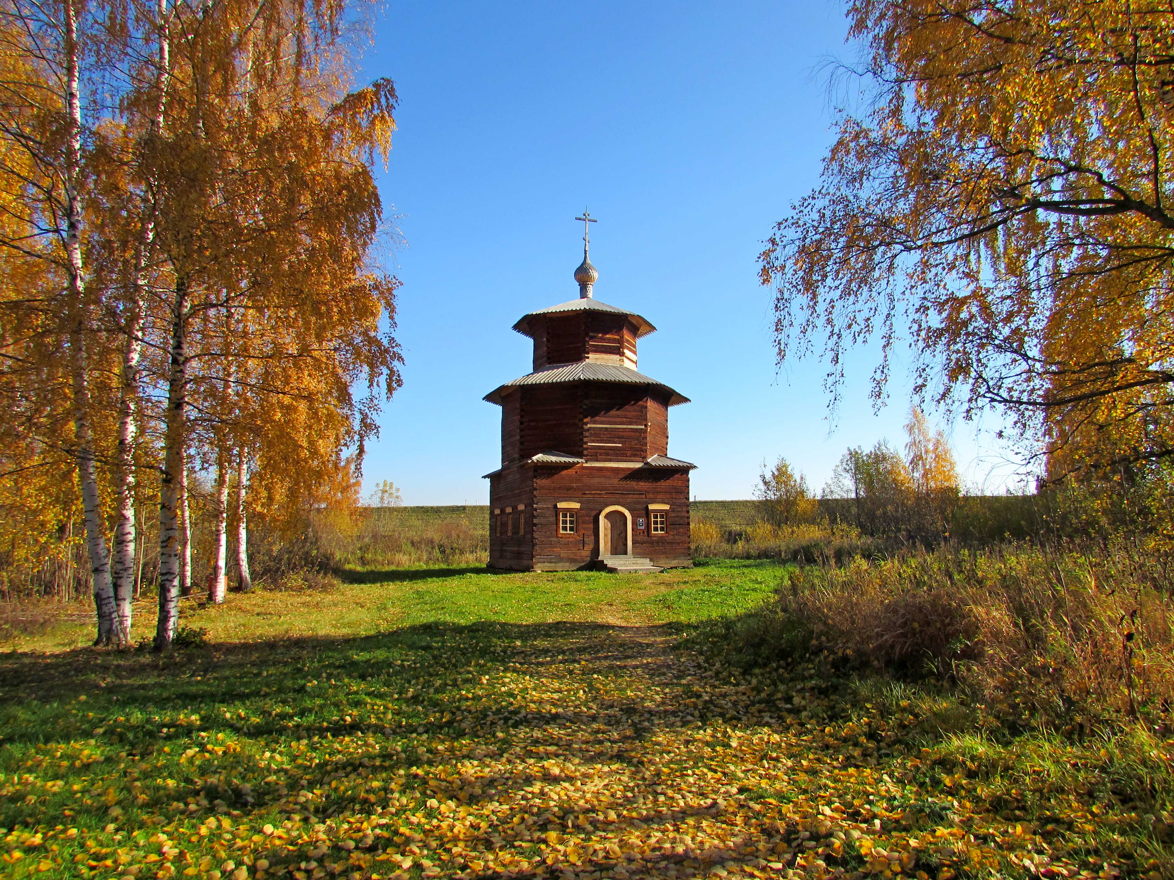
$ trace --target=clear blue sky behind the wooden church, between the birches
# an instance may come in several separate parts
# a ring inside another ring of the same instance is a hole
[[[848,446],[902,440],[906,377],[875,414],[858,352],[835,425],[824,365],[775,365],[756,256],[815,184],[831,141],[829,59],[850,60],[838,2],[387,4],[363,77],[400,96],[380,191],[403,282],[404,387],[369,447],[366,487],[405,503],[485,503],[500,409],[481,398],[529,372],[511,325],[578,296],[585,205],[595,296],[648,318],[640,368],[693,399],[669,454],[701,499],[749,497],[785,455],[815,488]],[[946,426],[947,428],[950,426]],[[998,453],[952,427],[971,481]]]

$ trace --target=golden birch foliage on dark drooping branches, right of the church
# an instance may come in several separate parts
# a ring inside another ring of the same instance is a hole
[[[919,390],[1082,462],[1174,449],[1174,11],[857,0],[868,93],[761,257],[781,358],[878,339]],[[1099,434],[1100,438],[1107,434]]]

